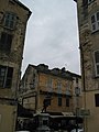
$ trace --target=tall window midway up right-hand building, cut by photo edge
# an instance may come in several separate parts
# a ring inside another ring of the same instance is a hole
[[[99,51],[95,52],[95,70],[96,76],[99,76]]]

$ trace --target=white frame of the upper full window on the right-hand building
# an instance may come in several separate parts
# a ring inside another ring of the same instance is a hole
[[[91,18],[95,16],[95,22],[91,22],[91,31],[92,32],[96,32],[99,30],[99,20],[97,20],[97,13],[99,13],[99,11],[97,11],[95,14],[91,15]],[[95,29],[94,29],[94,26],[95,26]]]

